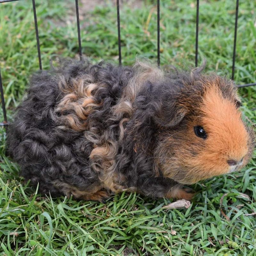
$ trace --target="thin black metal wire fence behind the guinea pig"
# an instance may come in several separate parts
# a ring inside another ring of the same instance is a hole
[[[14,2],[14,1],[21,1],[21,0],[0,0],[0,4],[1,3],[6,3],[6,2]],[[81,46],[81,35],[80,35],[78,0],[75,0],[75,4],[76,4],[76,24],[77,24],[78,48],[79,48],[79,56],[80,56],[80,60],[81,60],[82,59],[82,46]],[[158,64],[158,66],[160,66],[160,0],[157,0],[156,4],[157,4],[157,64]],[[35,0],[32,0],[32,5],[33,5],[33,12],[34,12],[38,62],[39,62],[39,68],[40,68],[40,70],[42,70]],[[1,8],[1,6],[0,6],[0,8]],[[234,44],[233,44],[233,61],[232,61],[232,75],[231,75],[232,80],[234,79],[235,63],[236,63],[236,36],[237,36],[238,9],[239,9],[239,0],[236,0],[236,15],[235,15]],[[119,0],[116,0],[116,12],[117,12],[117,35],[118,35],[119,65],[122,65]],[[195,42],[195,66],[196,67],[197,67],[197,64],[198,64],[198,35],[199,35],[199,0],[196,0],[196,42]],[[241,85],[238,85],[238,87],[247,87],[247,86],[253,86],[253,85],[256,85],[256,83],[241,84]],[[5,102],[4,102],[4,90],[3,90],[2,78],[1,78],[1,70],[0,70],[0,93],[1,93],[1,101],[2,101],[2,108],[3,108],[3,116],[4,116],[4,121],[0,123],[0,126],[7,126],[8,122],[7,122],[6,108],[5,108]]]

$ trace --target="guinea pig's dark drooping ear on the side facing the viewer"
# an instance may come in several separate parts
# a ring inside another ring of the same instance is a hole
[[[166,127],[173,127],[181,122],[181,120],[186,116],[189,110],[185,107],[175,107],[169,105],[168,108],[162,106],[159,108],[155,115],[153,116],[154,121]]]

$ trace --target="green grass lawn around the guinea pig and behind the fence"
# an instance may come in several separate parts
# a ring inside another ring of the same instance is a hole
[[[74,1],[36,1],[43,68],[56,56],[78,53]],[[127,1],[128,2],[128,1]],[[161,64],[194,64],[196,1],[161,2]],[[40,4],[39,4],[40,3]],[[84,55],[118,62],[116,10],[80,3]],[[155,1],[121,4],[123,63],[136,55],[156,60]],[[30,1],[0,4],[0,68],[8,118],[29,76],[38,69]],[[240,0],[235,80],[256,82],[256,2]],[[231,75],[235,1],[200,1],[199,53],[208,70]],[[201,59],[199,60],[199,62]],[[249,124],[256,123],[256,88],[240,91]],[[2,118],[2,113],[1,116]],[[166,199],[123,193],[106,204],[35,193],[5,156],[0,130],[0,255],[256,255],[256,159],[239,173],[197,183],[188,209]]]

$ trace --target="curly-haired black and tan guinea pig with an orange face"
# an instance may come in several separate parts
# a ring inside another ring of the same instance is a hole
[[[184,184],[240,170],[254,148],[235,84],[204,66],[64,61],[36,73],[9,127],[9,153],[43,194],[190,200]]]

